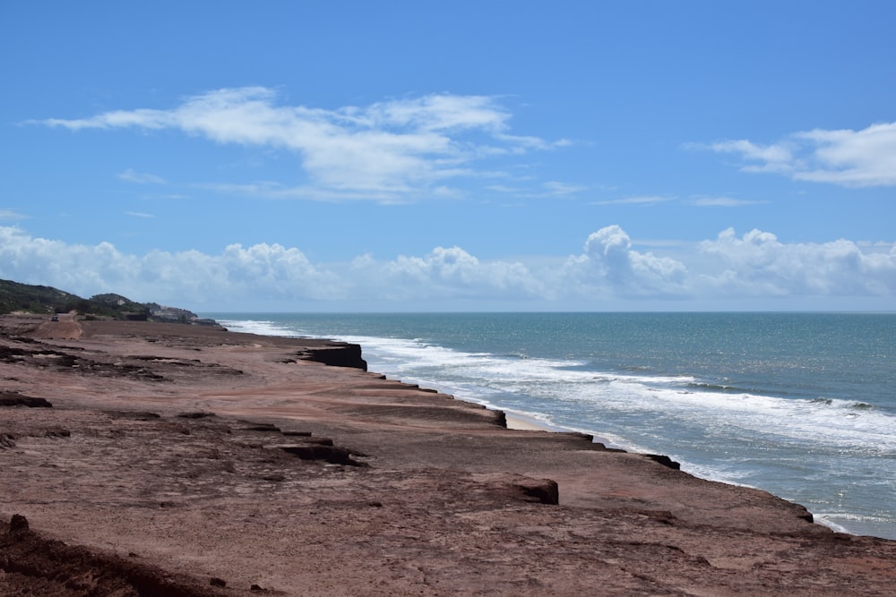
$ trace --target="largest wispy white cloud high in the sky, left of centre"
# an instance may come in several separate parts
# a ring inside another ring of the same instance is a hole
[[[274,90],[263,87],[222,89],[185,98],[168,110],[34,122],[72,131],[174,129],[222,144],[286,149],[296,154],[309,181],[281,192],[313,199],[419,196],[450,179],[479,175],[470,169],[479,158],[564,144],[510,134],[510,113],[487,96],[429,95],[334,110],[279,100]],[[131,170],[121,176],[158,182]]]

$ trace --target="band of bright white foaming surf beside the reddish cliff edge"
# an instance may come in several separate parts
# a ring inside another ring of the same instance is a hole
[[[270,320],[222,323],[279,336],[302,331]],[[625,436],[626,425],[640,433],[652,420],[668,429],[674,425],[744,441],[767,437],[863,451],[896,449],[896,417],[856,400],[794,398],[786,392],[770,396],[753,388],[690,375],[650,374],[641,368],[594,371],[590,360],[465,352],[419,337],[335,339],[362,345],[371,371],[490,407],[539,414],[545,422],[605,437]]]

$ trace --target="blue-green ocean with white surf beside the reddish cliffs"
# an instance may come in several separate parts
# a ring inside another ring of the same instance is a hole
[[[896,314],[208,313],[896,540]]]

